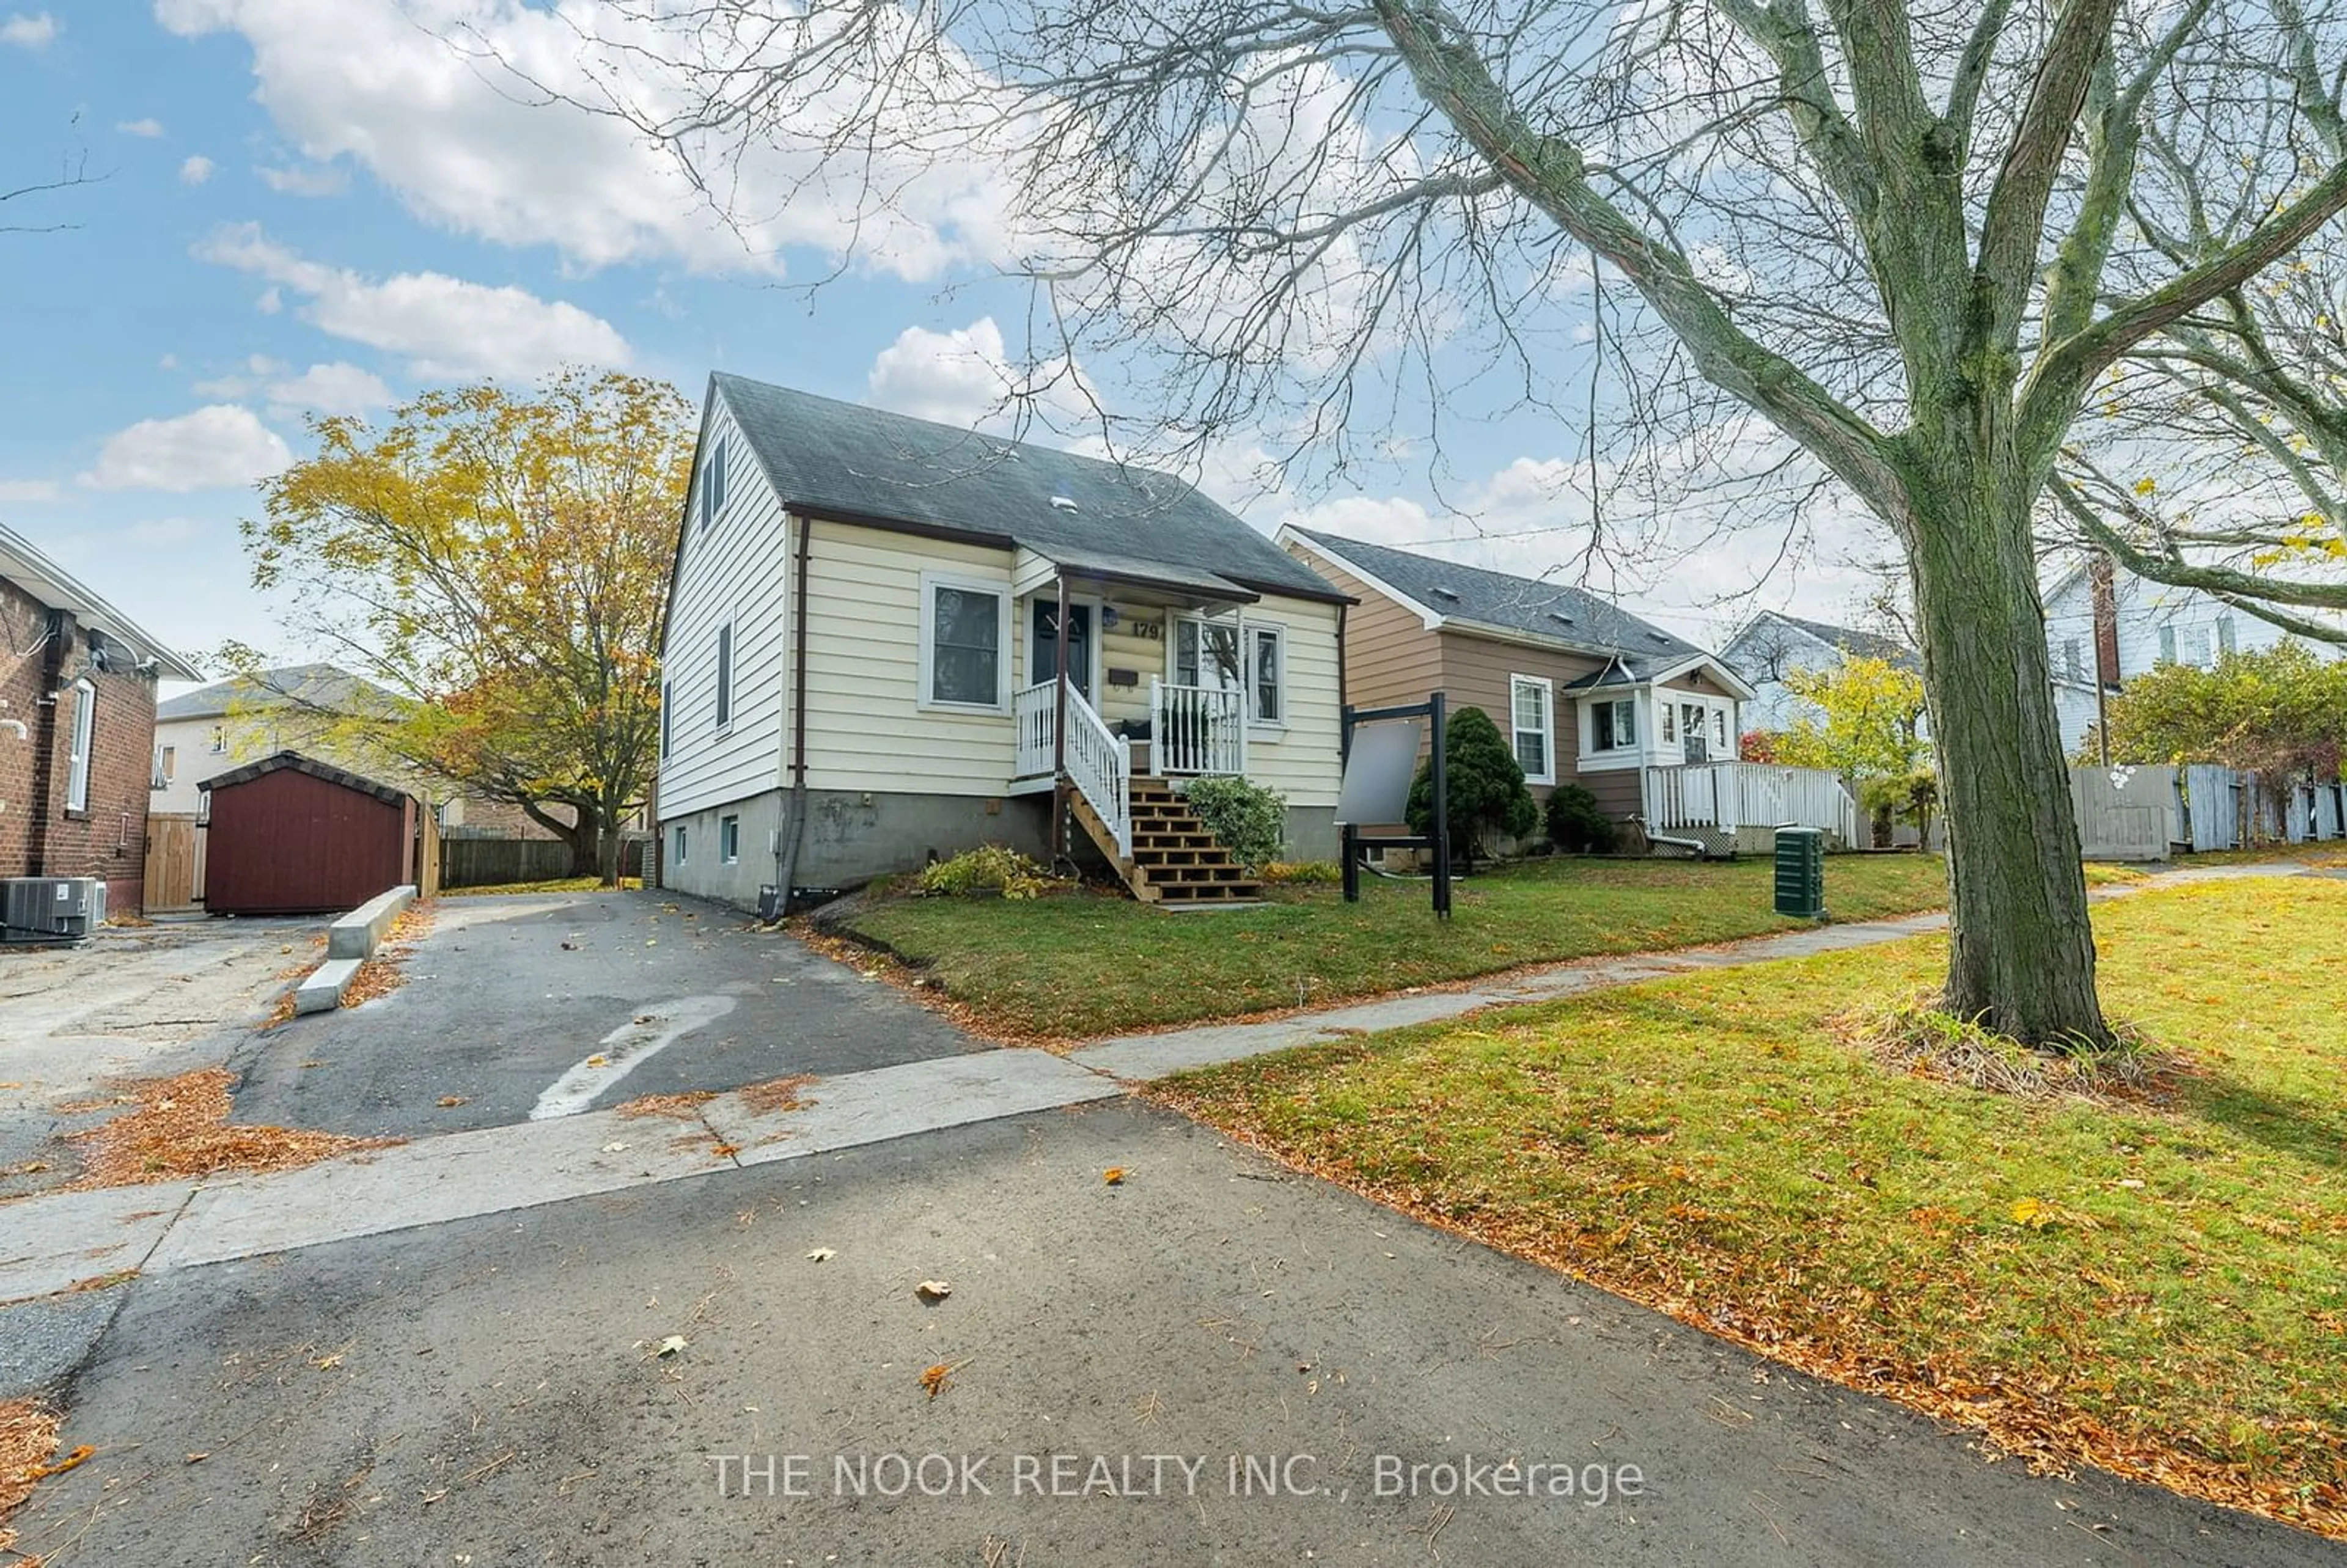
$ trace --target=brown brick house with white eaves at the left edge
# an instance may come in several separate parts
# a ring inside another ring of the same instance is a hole
[[[146,892],[155,681],[202,674],[0,528],[0,878],[94,876]]]

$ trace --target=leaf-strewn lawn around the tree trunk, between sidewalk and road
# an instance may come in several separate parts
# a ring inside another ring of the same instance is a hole
[[[1835,1019],[1941,939],[1756,965],[1171,1080],[1375,1199],[1824,1376],[2347,1537],[2347,883],[2096,911],[2112,1016],[2192,1073],[2018,1101]],[[2328,976],[2328,979],[2326,979]]]

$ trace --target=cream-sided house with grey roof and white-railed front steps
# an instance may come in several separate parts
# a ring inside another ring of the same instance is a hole
[[[711,376],[662,634],[662,885],[753,904],[981,843],[1253,892],[1181,789],[1335,854],[1345,594],[1136,467]]]

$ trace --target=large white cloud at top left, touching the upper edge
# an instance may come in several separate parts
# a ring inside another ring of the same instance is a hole
[[[617,94],[652,117],[685,113],[709,82],[657,61],[735,52],[723,21],[690,9],[157,0],[155,16],[188,38],[242,35],[253,99],[305,157],[350,157],[418,216],[500,244],[552,244],[589,268],[681,261],[753,275],[779,272],[786,246],[852,246],[904,277],[1016,249],[1005,232],[1016,209],[1007,162],[974,136],[936,136],[939,148],[882,155],[868,171],[836,167],[824,122],[857,99],[854,82],[793,101],[796,146],[725,162],[739,230],[624,120],[545,101]]]

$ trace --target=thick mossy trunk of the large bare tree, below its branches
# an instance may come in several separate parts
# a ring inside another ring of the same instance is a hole
[[[1969,446],[1969,441],[1967,441]],[[2030,547],[2035,479],[1927,465],[1908,528],[1948,829],[1948,1012],[2049,1049],[2110,1040]]]

